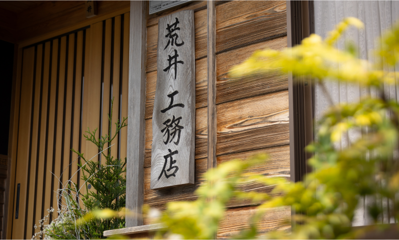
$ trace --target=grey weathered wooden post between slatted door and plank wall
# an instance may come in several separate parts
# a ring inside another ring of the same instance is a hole
[[[129,110],[126,228],[143,225],[144,201],[144,110],[146,107],[146,0],[130,1]]]

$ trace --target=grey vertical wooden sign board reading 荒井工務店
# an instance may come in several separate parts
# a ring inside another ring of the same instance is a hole
[[[194,184],[196,76],[194,11],[158,21],[151,189]]]

